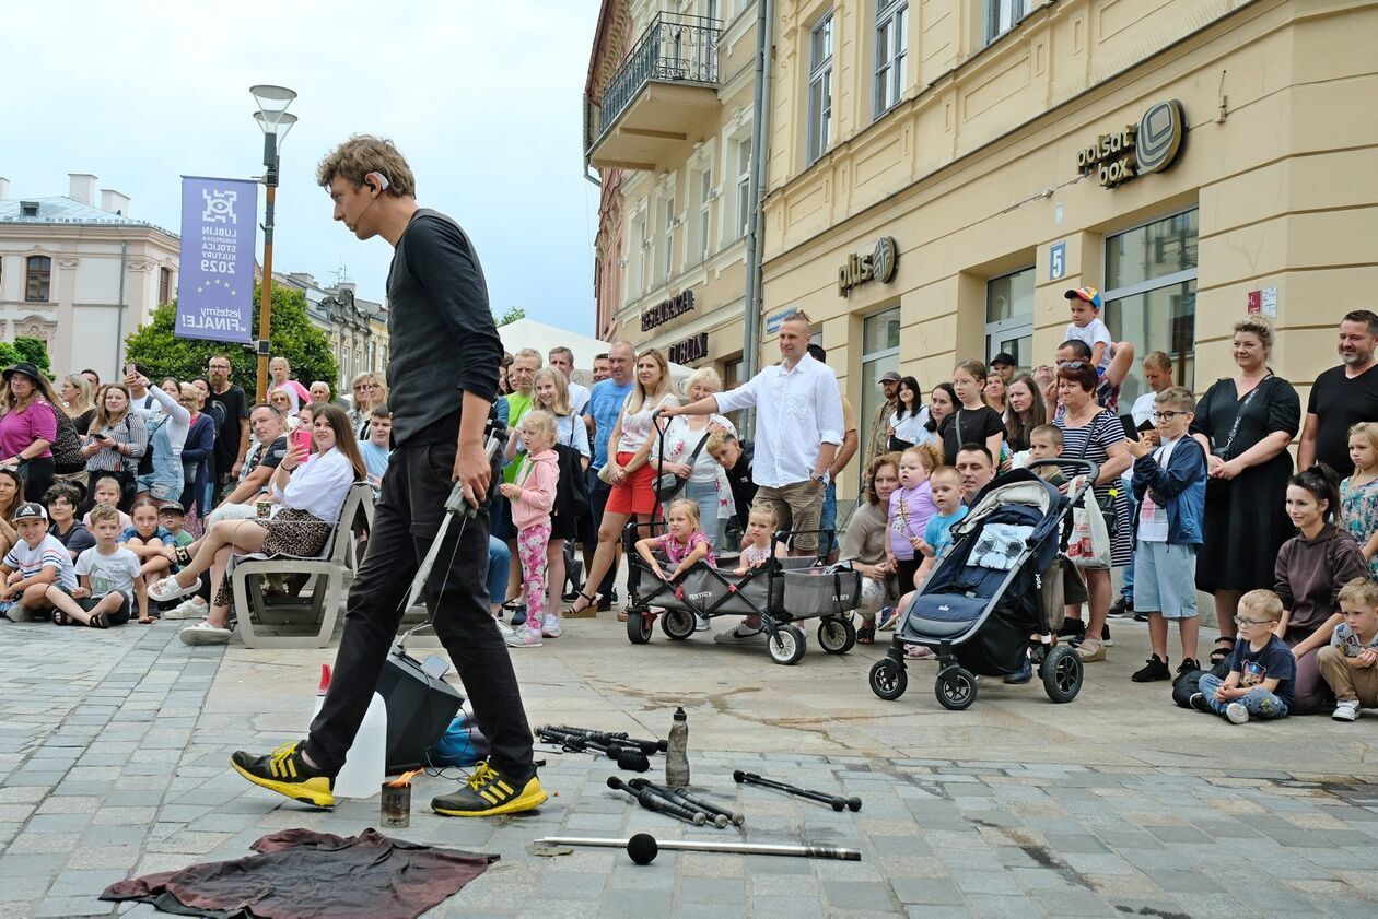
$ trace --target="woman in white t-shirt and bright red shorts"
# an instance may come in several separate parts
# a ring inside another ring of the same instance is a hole
[[[588,566],[584,586],[597,586],[617,561],[617,544],[621,528],[635,517],[638,524],[650,522],[656,510],[655,470],[649,466],[650,445],[655,441],[655,416],[666,405],[678,405],[670,384],[670,362],[657,349],[649,349],[637,355],[637,386],[627,394],[627,401],[617,415],[617,422],[608,437],[608,464],[599,470],[599,477],[612,485],[608,504],[604,507],[602,525],[598,528],[598,550]],[[602,437],[598,431],[598,437]],[[580,616],[598,603],[598,597],[579,591],[579,597],[565,610],[566,616]],[[626,619],[619,613],[617,619]]]

